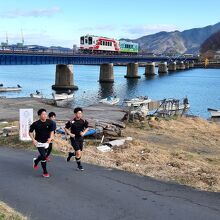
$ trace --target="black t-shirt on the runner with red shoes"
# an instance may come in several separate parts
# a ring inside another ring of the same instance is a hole
[[[50,133],[53,131],[53,122],[47,119],[45,122],[41,120],[35,121],[29,129],[29,132],[35,131],[35,140],[40,143],[46,143],[50,138]]]

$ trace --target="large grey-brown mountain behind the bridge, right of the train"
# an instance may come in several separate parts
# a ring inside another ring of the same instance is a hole
[[[161,53],[199,53],[201,44],[215,32],[220,31],[220,22],[203,28],[185,31],[159,32],[138,39],[124,39],[139,43],[140,50]]]

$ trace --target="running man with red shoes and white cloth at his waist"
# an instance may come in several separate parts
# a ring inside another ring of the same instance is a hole
[[[33,159],[33,168],[38,169],[38,163],[41,162],[43,177],[50,177],[47,172],[46,149],[53,139],[53,123],[47,119],[46,109],[39,109],[37,114],[39,120],[35,121],[29,129],[32,142],[40,153],[37,158]],[[35,135],[33,135],[33,131],[35,131]]]

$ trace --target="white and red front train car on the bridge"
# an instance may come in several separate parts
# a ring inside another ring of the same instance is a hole
[[[119,52],[120,44],[118,40],[86,35],[80,37],[80,50],[83,52]]]

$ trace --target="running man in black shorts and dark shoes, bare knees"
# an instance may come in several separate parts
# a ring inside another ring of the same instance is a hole
[[[84,170],[81,164],[83,136],[89,129],[88,122],[82,118],[82,108],[75,108],[74,114],[74,119],[66,123],[65,131],[70,135],[71,145],[75,152],[69,152],[66,160],[69,162],[71,157],[75,156],[77,168],[82,171]]]

